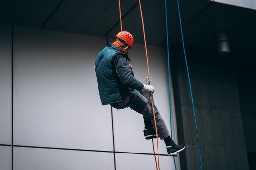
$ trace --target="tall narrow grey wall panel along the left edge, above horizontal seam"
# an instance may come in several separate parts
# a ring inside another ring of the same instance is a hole
[[[12,138],[12,27],[0,23],[0,144]]]

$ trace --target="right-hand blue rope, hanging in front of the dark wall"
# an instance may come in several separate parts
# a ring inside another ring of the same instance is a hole
[[[180,9],[179,9],[179,0],[177,0],[177,4],[178,4],[178,15],[179,15],[179,22],[180,22],[180,31],[181,31],[182,45],[183,45],[183,51],[184,51],[184,56],[185,56],[186,68],[187,68],[187,73],[188,73],[189,89],[190,89],[190,95],[191,95],[191,101],[192,101],[192,107],[193,107],[193,114],[194,114],[194,120],[195,120],[196,132],[197,132],[197,145],[198,145],[199,156],[200,156],[200,165],[201,165],[201,170],[203,170],[202,156],[201,156],[200,143],[199,143],[199,137],[198,137],[198,131],[197,131],[197,119],[196,119],[194,102],[193,102],[191,82],[190,82],[190,76],[189,76],[189,71],[188,71],[187,55],[186,55],[184,36],[183,36],[183,30],[182,30],[182,21],[181,21]]]

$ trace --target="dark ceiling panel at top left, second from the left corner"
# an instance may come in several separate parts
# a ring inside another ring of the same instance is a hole
[[[34,0],[18,21],[22,24],[42,26],[61,0]]]

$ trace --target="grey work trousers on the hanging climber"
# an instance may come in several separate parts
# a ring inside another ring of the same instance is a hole
[[[154,123],[150,92],[146,90],[142,90],[140,91],[140,93],[138,93],[138,91],[136,90],[129,91],[129,94],[126,96],[126,98],[123,101],[111,104],[111,106],[116,109],[123,109],[126,107],[130,107],[136,112],[142,114],[144,121],[150,120],[152,124],[152,128],[155,131],[155,123]],[[153,107],[154,107],[156,124],[158,129],[158,136],[160,137],[160,139],[165,139],[166,137],[169,136],[169,131],[157,107],[155,106],[154,99],[153,99]]]

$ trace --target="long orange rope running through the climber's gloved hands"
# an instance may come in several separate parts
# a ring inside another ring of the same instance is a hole
[[[143,35],[144,35],[144,44],[145,44],[145,51],[146,51],[146,58],[147,58],[148,80],[150,81],[149,65],[148,65],[148,51],[147,51],[145,27],[144,27],[144,21],[143,21],[142,8],[141,8],[141,2],[140,2],[140,0],[139,0],[139,9],[140,9],[140,15],[141,15],[141,21],[142,21],[142,29],[143,29]],[[154,104],[153,104],[153,96],[152,96],[152,93],[151,93],[151,95],[150,95],[150,98],[151,98],[152,111],[153,111],[153,116],[154,116],[155,130],[156,130],[156,135],[157,135],[158,169],[160,170],[159,147],[158,147],[158,129],[157,129],[157,123],[156,123],[156,117],[155,117],[155,110],[154,110]],[[154,151],[154,153],[155,153],[155,151]]]

